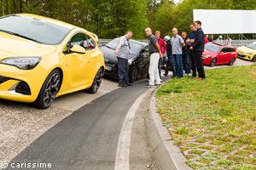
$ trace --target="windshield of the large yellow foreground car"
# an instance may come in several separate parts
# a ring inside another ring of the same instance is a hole
[[[67,36],[70,30],[42,20],[12,15],[0,19],[0,31],[34,42],[56,45]]]

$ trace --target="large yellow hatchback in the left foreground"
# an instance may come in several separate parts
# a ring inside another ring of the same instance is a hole
[[[48,108],[55,97],[95,94],[105,71],[98,38],[35,14],[0,18],[0,98]]]

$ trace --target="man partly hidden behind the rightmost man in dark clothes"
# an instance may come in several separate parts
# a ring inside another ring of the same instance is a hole
[[[190,29],[192,33],[189,36],[189,39],[187,40],[187,43],[189,43],[189,47],[193,42],[195,42],[195,33],[196,33],[196,28],[194,26],[194,23],[192,22],[190,24]],[[191,64],[191,69],[192,69],[192,77],[196,77],[196,65],[195,65],[195,56],[192,50],[189,49],[189,56],[190,56],[190,64]]]

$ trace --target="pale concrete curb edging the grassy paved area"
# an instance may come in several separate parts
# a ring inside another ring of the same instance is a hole
[[[192,170],[186,164],[186,158],[182,151],[174,144],[171,134],[163,126],[160,115],[157,113],[155,93],[148,95],[148,111],[146,127],[149,146],[153,151],[156,165],[159,170]]]

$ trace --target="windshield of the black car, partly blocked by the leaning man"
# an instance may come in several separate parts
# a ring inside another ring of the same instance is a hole
[[[116,49],[118,47],[118,44],[119,44],[119,38],[115,38],[111,42],[108,42],[106,44],[106,47],[111,48],[111,49]],[[139,42],[130,40],[130,45],[131,45],[131,51],[130,51],[131,54],[137,55],[143,49],[143,44],[141,44]]]

